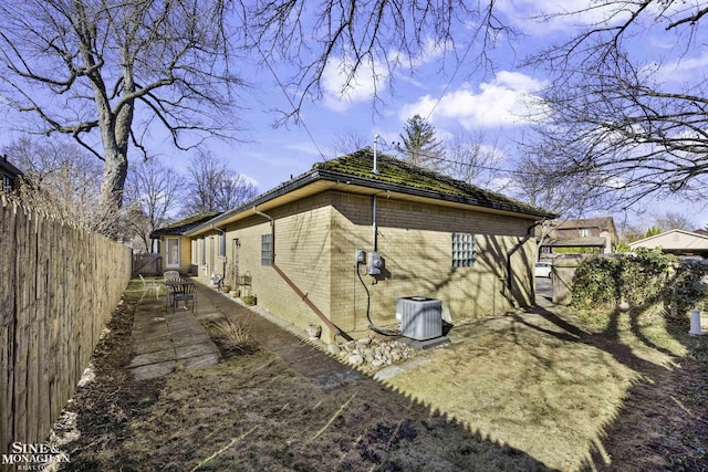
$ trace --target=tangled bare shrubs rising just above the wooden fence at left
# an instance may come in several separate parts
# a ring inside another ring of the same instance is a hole
[[[19,139],[2,149],[22,170],[18,197],[28,206],[75,228],[111,234],[100,208],[101,164],[64,140]]]

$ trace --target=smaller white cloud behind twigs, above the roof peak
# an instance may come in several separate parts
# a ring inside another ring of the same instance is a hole
[[[385,65],[377,62],[360,64],[356,74],[346,84],[353,64],[343,59],[339,64],[327,62],[322,73],[324,88],[324,106],[335,112],[345,112],[350,106],[360,102],[369,102],[376,94],[381,94],[386,85],[387,71]]]

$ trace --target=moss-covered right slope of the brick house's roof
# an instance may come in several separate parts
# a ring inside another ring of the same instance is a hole
[[[410,165],[386,154],[378,153],[376,160],[378,174],[372,172],[374,150],[371,147],[365,147],[356,153],[315,164],[313,169],[336,171],[387,183],[462,197],[475,200],[482,206],[497,207],[501,204],[514,207],[524,212],[545,212],[540,208],[523,203],[501,193],[492,192],[461,180]]]

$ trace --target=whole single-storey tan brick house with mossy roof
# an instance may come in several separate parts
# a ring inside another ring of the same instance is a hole
[[[376,161],[365,148],[316,164],[186,231],[199,277],[225,274],[281,318],[321,325],[327,342],[393,325],[398,297],[439,298],[458,319],[533,304],[533,228],[555,214]]]

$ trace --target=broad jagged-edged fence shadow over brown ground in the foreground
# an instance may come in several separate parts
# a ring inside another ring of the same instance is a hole
[[[304,375],[260,343],[216,366],[136,381],[124,368],[134,310],[124,303],[115,315],[96,380],[67,407],[81,436],[63,470],[549,470],[351,367],[334,363],[340,381],[321,382],[333,373]],[[302,347],[301,363],[329,359]]]

